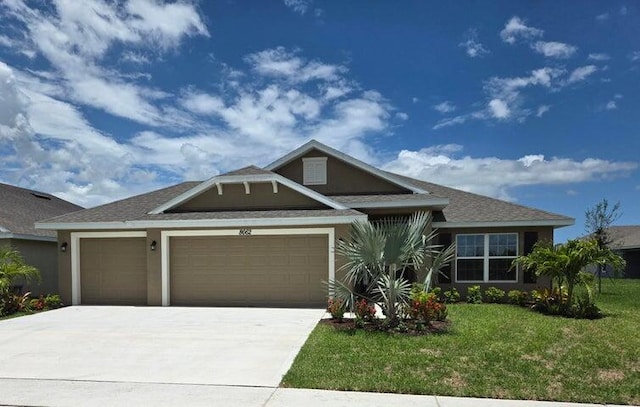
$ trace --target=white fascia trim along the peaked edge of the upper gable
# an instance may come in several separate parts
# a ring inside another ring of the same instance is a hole
[[[374,174],[377,175],[378,177],[387,180],[393,184],[399,185],[403,188],[407,188],[408,190],[416,193],[416,194],[428,194],[428,191],[425,191],[419,187],[416,187],[415,185],[412,185],[411,183],[407,183],[402,179],[397,178],[397,176],[395,174],[392,174],[390,172],[386,172],[386,171],[382,171],[374,166],[371,166],[363,161],[360,161],[356,158],[353,158],[341,151],[338,151],[336,149],[333,149],[327,145],[324,145],[322,143],[320,143],[319,141],[316,140],[311,140],[308,143],[296,148],[295,150],[293,150],[292,152],[290,152],[289,154],[285,155],[284,157],[272,162],[271,164],[267,165],[265,167],[266,170],[269,171],[275,171],[280,167],[283,167],[284,165],[290,163],[291,161],[305,155],[306,153],[308,153],[309,151],[312,150],[318,150],[321,151],[325,154],[331,155],[339,160],[342,160],[346,163],[349,163],[351,165],[353,165],[356,168],[360,168],[361,170],[364,170],[370,174]]]

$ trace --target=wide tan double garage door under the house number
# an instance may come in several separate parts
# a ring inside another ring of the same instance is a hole
[[[170,247],[172,305],[326,305],[326,235],[172,237]]]

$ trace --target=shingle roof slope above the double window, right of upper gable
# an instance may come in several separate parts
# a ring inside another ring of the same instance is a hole
[[[433,194],[449,198],[449,205],[436,214],[436,221],[446,222],[514,222],[514,221],[573,221],[573,218],[542,211],[511,202],[461,191],[431,182],[393,174]]]

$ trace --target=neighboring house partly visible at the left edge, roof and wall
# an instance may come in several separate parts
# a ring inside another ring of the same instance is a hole
[[[55,231],[36,229],[37,221],[82,209],[53,195],[0,183],[0,246],[18,249],[40,270],[42,282],[24,290],[33,296],[58,292],[58,244]]]

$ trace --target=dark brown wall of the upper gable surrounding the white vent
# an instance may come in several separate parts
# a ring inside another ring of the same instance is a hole
[[[297,158],[279,168],[276,172],[303,185],[302,159],[308,157],[326,157],[326,154],[311,150],[303,157]],[[327,185],[306,185],[306,187],[324,195],[402,194],[410,192],[406,188],[395,185],[334,157],[328,157],[327,159]]]

